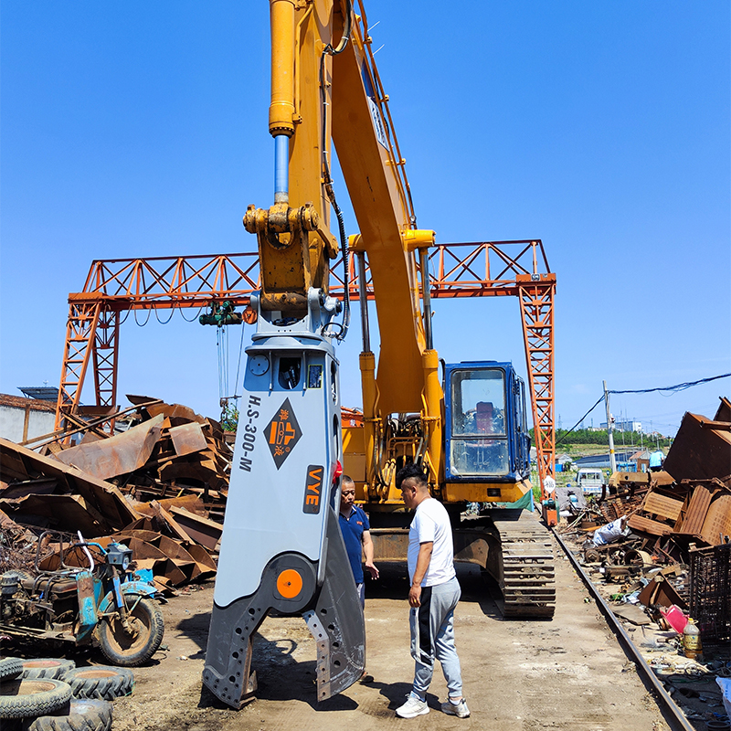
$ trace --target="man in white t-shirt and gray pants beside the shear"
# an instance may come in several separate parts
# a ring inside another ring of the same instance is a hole
[[[450,516],[429,494],[421,468],[408,464],[396,476],[397,488],[414,519],[408,531],[408,591],[411,657],[416,662],[414,684],[407,702],[396,709],[401,718],[429,713],[426,696],[439,660],[449,698],[445,714],[467,718],[470,709],[462,697],[460,658],[454,647],[454,608],[461,590],[454,571]]]

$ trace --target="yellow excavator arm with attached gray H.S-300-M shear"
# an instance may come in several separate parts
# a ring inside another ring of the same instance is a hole
[[[379,313],[391,320],[381,347],[395,357],[384,367],[398,364],[400,372],[379,373],[376,386],[370,368],[369,413],[376,416],[379,400],[384,413],[423,410],[425,358],[437,371],[419,314],[415,253],[434,235],[414,228],[362,7],[355,16],[350,0],[270,0],[270,19],[274,202],[249,206],[244,217],[257,236],[261,289],[251,296],[257,332],[247,348],[203,673],[207,687],[237,708],[255,692],[253,636],[271,610],[302,615],[312,631],[318,700],[347,688],[365,667],[363,612],[336,512],[343,446],[334,339],[347,330],[348,306],[336,322],[330,260],[347,240],[331,137],[362,228],[355,248],[368,252]],[[434,403],[438,409],[439,395]],[[370,426],[375,437],[375,418]]]

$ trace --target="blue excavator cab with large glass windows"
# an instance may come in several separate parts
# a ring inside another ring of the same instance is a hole
[[[510,363],[445,367],[447,482],[520,482],[530,475],[523,379]]]

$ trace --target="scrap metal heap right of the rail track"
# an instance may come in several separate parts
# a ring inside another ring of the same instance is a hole
[[[613,610],[634,624],[697,621],[705,647],[731,641],[731,402],[687,413],[662,471],[617,472],[609,494],[559,532],[581,547]],[[570,503],[569,503],[570,507]]]

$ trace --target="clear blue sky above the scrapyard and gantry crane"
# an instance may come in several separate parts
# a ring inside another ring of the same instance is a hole
[[[67,296],[91,260],[255,248],[241,217],[272,202],[268,6],[4,0],[0,392],[58,385]],[[444,7],[365,7],[418,225],[444,242],[543,239],[556,422],[572,426],[603,379],[731,371],[728,3]],[[517,301],[434,309],[448,362],[524,372]],[[121,343],[123,403],[143,393],[217,415],[214,328],[131,317]],[[239,344],[229,334],[231,383]],[[355,326],[339,346],[345,405],[360,404],[359,350]],[[724,379],[612,410],[672,434],[729,394]]]

